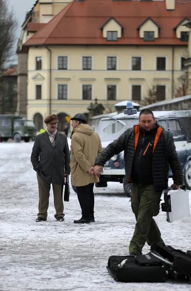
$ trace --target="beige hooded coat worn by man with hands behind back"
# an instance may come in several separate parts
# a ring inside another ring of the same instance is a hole
[[[80,124],[71,135],[71,179],[74,186],[99,182],[95,174],[89,174],[102,146],[98,134],[88,125]]]

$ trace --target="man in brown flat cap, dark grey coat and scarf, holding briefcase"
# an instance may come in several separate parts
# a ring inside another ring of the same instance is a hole
[[[64,177],[68,177],[70,174],[70,153],[67,137],[57,131],[58,117],[55,114],[47,116],[44,122],[47,130],[36,136],[31,155],[39,191],[38,218],[36,222],[47,220],[51,184],[56,210],[54,217],[58,221],[64,221]]]

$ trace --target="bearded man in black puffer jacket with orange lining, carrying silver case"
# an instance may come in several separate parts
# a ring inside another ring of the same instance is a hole
[[[125,182],[132,182],[131,207],[137,221],[129,254],[137,256],[142,254],[145,242],[164,243],[153,216],[159,214],[160,196],[168,187],[169,165],[175,189],[183,182],[182,167],[172,133],[157,124],[149,109],[140,112],[139,125],[127,129],[96,158],[95,174],[99,177],[105,162],[123,150]]]

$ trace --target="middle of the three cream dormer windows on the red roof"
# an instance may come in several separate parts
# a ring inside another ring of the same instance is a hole
[[[141,25],[137,28],[140,38],[145,41],[154,41],[159,37],[159,25],[151,18],[146,18]]]

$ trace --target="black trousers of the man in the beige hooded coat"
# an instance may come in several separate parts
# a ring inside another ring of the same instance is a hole
[[[83,219],[94,219],[94,183],[85,186],[78,186],[77,194],[81,207],[81,214]]]

